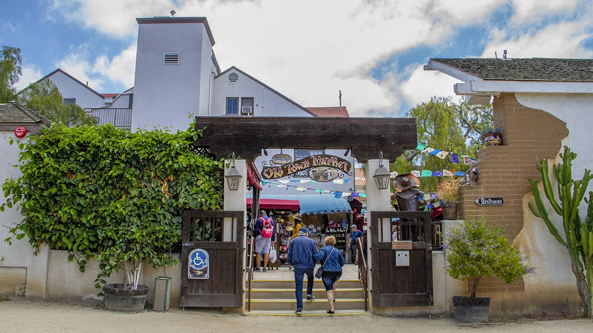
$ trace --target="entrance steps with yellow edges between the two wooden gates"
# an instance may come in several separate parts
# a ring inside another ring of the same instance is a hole
[[[313,286],[313,302],[307,302],[307,278],[305,276],[302,292],[304,316],[327,316],[329,309],[326,289],[321,280],[315,279]],[[246,303],[247,309],[247,303]],[[364,292],[361,280],[338,280],[336,283],[336,313],[334,315],[370,315],[365,312]],[[294,280],[253,280],[251,289],[251,311],[247,315],[295,316],[297,300],[295,299]]]

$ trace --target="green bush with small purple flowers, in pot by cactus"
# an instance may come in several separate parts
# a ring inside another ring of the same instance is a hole
[[[506,283],[518,280],[534,268],[522,264],[522,257],[515,246],[509,244],[505,229],[488,226],[487,220],[464,222],[461,228],[451,229],[445,235],[447,243],[447,274],[452,278],[473,278],[471,297],[476,297],[480,278],[494,276]]]

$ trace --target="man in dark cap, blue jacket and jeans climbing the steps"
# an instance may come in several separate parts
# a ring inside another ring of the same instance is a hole
[[[302,315],[302,280],[307,274],[307,301],[313,302],[313,282],[315,261],[313,255],[317,254],[317,245],[313,239],[307,237],[308,229],[302,227],[298,230],[298,237],[292,239],[288,246],[288,263],[294,266],[295,296],[297,296],[297,315]]]

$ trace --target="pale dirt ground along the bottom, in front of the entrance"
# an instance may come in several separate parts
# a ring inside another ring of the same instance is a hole
[[[451,318],[244,316],[215,310],[119,313],[101,306],[15,298],[0,301],[0,332],[590,332],[589,319],[515,319],[458,324]]]

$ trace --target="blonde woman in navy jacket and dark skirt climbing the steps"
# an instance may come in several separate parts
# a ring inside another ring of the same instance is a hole
[[[336,281],[342,277],[344,256],[340,249],[334,248],[334,245],[336,245],[334,236],[327,236],[324,243],[326,247],[320,249],[318,254],[314,254],[313,259],[320,260],[321,265],[323,265],[321,280],[326,287],[327,303],[330,305],[327,313],[334,313],[333,303],[336,300]]]

